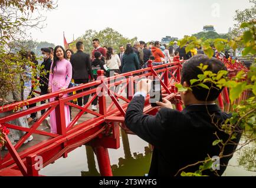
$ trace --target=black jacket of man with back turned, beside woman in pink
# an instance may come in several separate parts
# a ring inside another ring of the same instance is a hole
[[[91,70],[90,55],[82,51],[71,55],[70,62],[73,69],[73,79],[88,79],[89,75],[93,78]]]

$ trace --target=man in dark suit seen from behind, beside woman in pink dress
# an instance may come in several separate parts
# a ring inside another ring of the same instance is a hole
[[[83,42],[78,41],[76,43],[77,53],[71,55],[70,62],[73,68],[73,79],[75,83],[88,83],[89,75],[93,80],[93,71],[91,69],[90,55],[84,53],[84,45]],[[86,88],[84,90],[88,90],[90,88]],[[78,90],[77,93],[82,92],[82,90]],[[84,102],[82,98],[78,98],[77,102],[79,106],[84,106],[89,99],[90,95],[84,96]]]

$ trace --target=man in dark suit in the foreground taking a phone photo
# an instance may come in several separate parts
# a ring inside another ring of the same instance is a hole
[[[206,55],[193,56],[183,63],[181,73],[183,86],[190,86],[190,80],[198,79],[197,76],[202,74],[201,69],[198,68],[200,63],[208,65],[206,70],[214,73],[227,70],[216,58],[209,59]],[[222,143],[225,143],[228,140],[229,135],[219,127],[231,117],[231,114],[222,112],[215,104],[222,89],[216,89],[218,88],[216,86],[211,90],[194,87],[192,91],[180,93],[185,105],[182,112],[173,110],[169,100],[163,99],[163,102],[157,102],[161,109],[152,116],[143,114],[145,97],[150,87],[148,79],[137,83],[137,93],[134,94],[125,117],[126,126],[154,146],[149,176],[175,176],[180,175],[182,171],[196,172],[202,163],[195,163],[204,161],[208,156],[212,160],[218,157],[221,144],[214,146],[213,142],[222,140]],[[224,173],[241,137],[241,129],[237,127],[235,133],[235,139],[229,140],[223,150],[225,157],[217,161],[219,169],[214,169],[214,166],[212,169],[215,171],[208,169],[204,170],[203,174],[221,176]],[[188,167],[189,164],[194,165]],[[183,167],[186,168],[182,169]]]

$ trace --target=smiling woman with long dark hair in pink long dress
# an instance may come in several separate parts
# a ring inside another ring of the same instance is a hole
[[[62,46],[56,46],[50,69],[48,92],[58,92],[60,90],[64,91],[68,88],[72,78],[72,65],[69,61],[67,61],[66,58],[67,55],[64,48]],[[65,96],[67,96],[67,94],[63,95],[63,97]],[[50,99],[50,102],[53,100],[54,98]],[[70,109],[68,108],[68,105],[64,105],[64,112],[65,124],[67,127],[70,123]],[[51,133],[57,133],[55,110],[52,110],[50,113],[50,122]]]

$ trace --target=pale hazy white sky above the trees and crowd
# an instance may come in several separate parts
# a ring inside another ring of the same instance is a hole
[[[235,10],[249,8],[249,0],[58,0],[58,8],[48,11],[47,27],[32,30],[36,41],[63,45],[87,30],[106,27],[123,36],[156,41],[166,35],[182,38],[214,25],[216,32],[227,33],[234,25]]]

